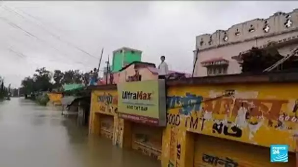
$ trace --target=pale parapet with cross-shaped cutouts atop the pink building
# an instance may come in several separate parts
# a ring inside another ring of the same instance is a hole
[[[290,13],[276,12],[268,19],[254,19],[233,25],[227,30],[199,35],[196,37],[196,49],[211,49],[292,31],[298,31],[298,9]]]

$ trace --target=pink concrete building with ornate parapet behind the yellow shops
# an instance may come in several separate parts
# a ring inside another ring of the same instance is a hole
[[[298,9],[290,13],[276,12],[267,19],[254,19],[227,30],[197,36],[194,76],[240,73],[241,67],[235,58],[251,47],[266,47],[269,42],[276,42],[283,56],[298,46]]]

